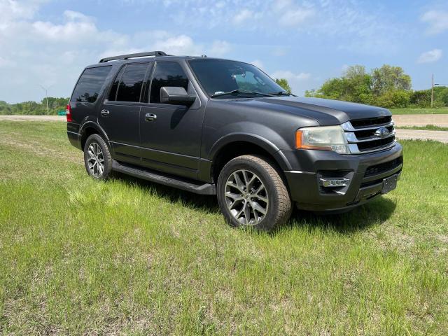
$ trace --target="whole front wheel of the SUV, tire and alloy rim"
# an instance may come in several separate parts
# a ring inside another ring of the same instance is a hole
[[[218,203],[235,227],[272,230],[290,218],[288,190],[274,165],[265,158],[242,155],[230,160],[218,177]]]

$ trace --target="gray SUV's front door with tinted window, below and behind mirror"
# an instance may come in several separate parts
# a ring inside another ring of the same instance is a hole
[[[178,62],[156,62],[149,104],[141,107],[142,165],[162,172],[197,179],[204,109],[200,99],[190,106],[160,103],[160,88],[193,85]]]

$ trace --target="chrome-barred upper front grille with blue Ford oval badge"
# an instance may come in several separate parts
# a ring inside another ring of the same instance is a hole
[[[391,116],[350,120],[342,124],[342,128],[350,152],[354,154],[381,151],[395,144],[395,130]],[[377,132],[378,130],[380,132]]]

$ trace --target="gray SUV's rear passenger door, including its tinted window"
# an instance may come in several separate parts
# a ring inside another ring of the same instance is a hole
[[[151,62],[125,64],[113,81],[98,120],[111,142],[118,161],[139,164],[141,160],[139,116],[141,92]]]

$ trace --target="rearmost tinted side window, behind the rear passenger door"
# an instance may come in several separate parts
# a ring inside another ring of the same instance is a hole
[[[111,71],[111,66],[99,66],[97,68],[85,69],[76,83],[75,90],[71,96],[71,102],[94,103],[99,95],[104,80]]]

